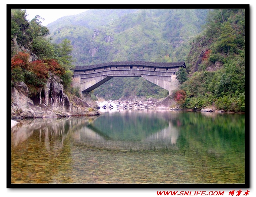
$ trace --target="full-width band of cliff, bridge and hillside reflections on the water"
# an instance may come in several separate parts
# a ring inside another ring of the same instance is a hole
[[[36,135],[44,149],[59,149],[71,133],[74,143],[101,149],[183,149],[199,144],[208,153],[220,155],[226,149],[244,146],[241,116],[116,110],[96,117],[26,119],[12,128],[12,145],[16,147]],[[243,153],[243,149],[237,151]]]

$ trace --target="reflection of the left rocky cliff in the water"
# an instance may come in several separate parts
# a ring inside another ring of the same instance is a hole
[[[63,141],[67,134],[81,126],[91,123],[97,117],[90,118],[45,118],[45,119],[24,119],[19,120],[11,129],[13,147],[25,142],[32,135],[36,135],[36,140],[39,144],[44,144],[44,147],[49,150],[62,148]]]

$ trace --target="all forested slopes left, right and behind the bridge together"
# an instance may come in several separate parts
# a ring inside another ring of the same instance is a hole
[[[181,108],[245,110],[243,9],[93,9],[47,27],[41,26],[40,16],[27,21],[26,11],[13,10],[12,52],[13,81],[36,88],[53,71],[77,95],[70,85],[75,65],[185,61],[187,68],[177,73],[180,90],[171,95]],[[167,97],[168,91],[143,78],[112,78],[91,95],[146,100]]]

